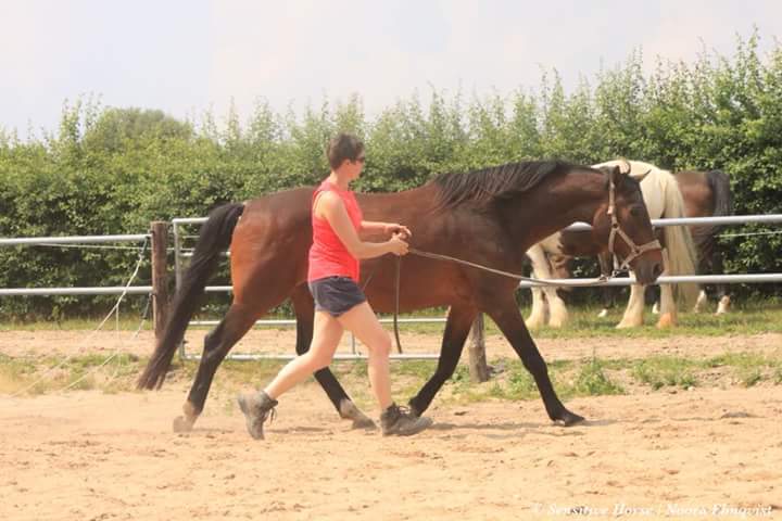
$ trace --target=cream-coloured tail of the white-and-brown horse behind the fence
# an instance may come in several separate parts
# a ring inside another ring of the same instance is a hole
[[[663,217],[684,217],[684,200],[682,199],[679,185],[672,175],[665,181],[665,212]],[[666,226],[663,231],[666,249],[668,250],[668,274],[669,275],[695,275],[697,270],[697,253],[693,242],[690,227]],[[698,294],[696,283],[686,282],[673,285],[677,298],[684,305],[692,306]]]

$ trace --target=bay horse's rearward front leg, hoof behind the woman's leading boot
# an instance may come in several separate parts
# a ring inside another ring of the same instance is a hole
[[[471,304],[453,305],[449,310],[443,334],[440,359],[434,374],[409,401],[411,411],[420,416],[431,404],[443,383],[451,378],[458,364],[462,350],[469,334],[478,310]]]

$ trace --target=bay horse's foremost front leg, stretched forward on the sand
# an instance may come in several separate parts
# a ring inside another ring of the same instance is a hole
[[[510,342],[514,351],[521,358],[525,368],[534,378],[538,391],[543,399],[548,418],[566,427],[583,421],[583,417],[569,411],[559,401],[554,385],[548,378],[548,368],[538,347],[525,326],[513,294],[509,297],[496,300],[485,306],[485,312],[494,320],[505,338]]]

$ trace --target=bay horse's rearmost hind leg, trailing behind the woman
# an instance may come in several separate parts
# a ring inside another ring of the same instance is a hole
[[[244,336],[255,320],[265,312],[266,309],[251,309],[234,303],[217,327],[206,334],[195,380],[193,380],[188,398],[182,405],[184,415],[174,419],[174,432],[192,430],[195,420],[203,411],[217,367],[231,347]]]

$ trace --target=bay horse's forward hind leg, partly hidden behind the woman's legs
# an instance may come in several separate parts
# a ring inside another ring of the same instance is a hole
[[[306,284],[299,285],[291,295],[297,316],[297,354],[303,355],[310,350],[313,338],[315,303]],[[337,380],[328,367],[315,371],[315,380],[333,404],[340,418],[353,421],[353,429],[375,429],[375,422],[356,407],[355,403]]]

